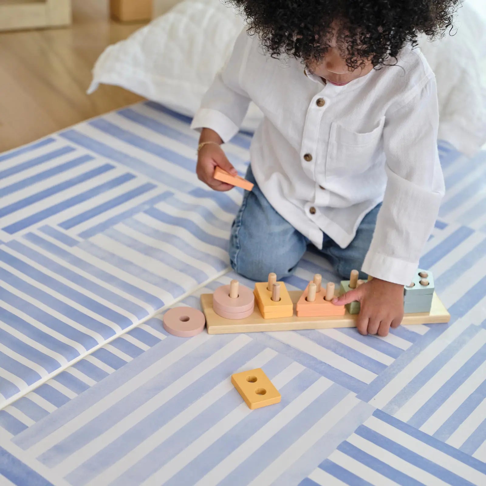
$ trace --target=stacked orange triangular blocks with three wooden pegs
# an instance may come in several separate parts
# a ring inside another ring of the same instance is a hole
[[[334,305],[334,284],[328,282],[326,289],[321,286],[321,276],[316,274],[301,295],[295,311],[297,317],[324,317],[329,315],[344,315],[344,305]]]

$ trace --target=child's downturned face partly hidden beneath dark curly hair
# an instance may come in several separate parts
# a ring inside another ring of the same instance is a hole
[[[336,35],[330,41],[330,49],[324,58],[318,63],[309,62],[307,66],[314,74],[336,86],[347,85],[355,79],[366,76],[373,69],[371,61],[366,59],[363,68],[349,70],[346,60],[343,59],[341,50],[338,48]]]

